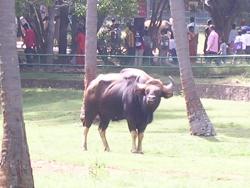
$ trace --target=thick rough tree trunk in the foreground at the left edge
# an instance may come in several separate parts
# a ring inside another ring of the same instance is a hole
[[[22,112],[22,91],[16,53],[15,1],[0,1],[0,70],[3,141],[0,187],[34,187]]]

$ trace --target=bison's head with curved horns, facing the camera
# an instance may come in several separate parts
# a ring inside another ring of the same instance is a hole
[[[147,107],[155,110],[161,101],[161,97],[173,96],[173,80],[168,85],[158,79],[148,80],[145,84],[138,83],[136,92],[144,96],[144,103]]]

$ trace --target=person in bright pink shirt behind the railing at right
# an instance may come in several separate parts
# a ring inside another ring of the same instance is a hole
[[[210,34],[207,39],[207,49],[206,54],[207,55],[218,55],[219,52],[219,35],[215,31],[215,26],[210,25],[209,26]],[[211,63],[211,58],[209,58],[209,63]],[[219,64],[219,61],[216,60],[216,64]]]

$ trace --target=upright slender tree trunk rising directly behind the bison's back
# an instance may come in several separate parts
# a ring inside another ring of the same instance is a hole
[[[87,1],[86,50],[85,50],[85,88],[96,77],[97,49],[97,0]]]

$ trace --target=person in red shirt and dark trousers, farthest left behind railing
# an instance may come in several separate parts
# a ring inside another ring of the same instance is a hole
[[[35,47],[36,47],[36,34],[35,32],[29,28],[28,24],[24,24],[24,29],[25,29],[25,35],[23,38],[23,45],[25,44],[26,48],[24,50],[26,54],[26,60],[27,63],[32,63],[33,54],[35,52]]]

